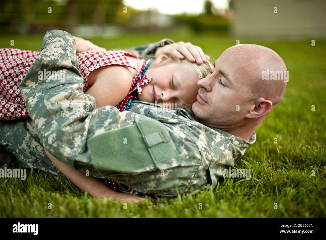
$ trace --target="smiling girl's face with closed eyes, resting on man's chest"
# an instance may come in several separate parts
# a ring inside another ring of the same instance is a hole
[[[156,59],[156,61],[159,57]],[[196,102],[199,76],[180,63],[151,68],[145,75],[152,80],[138,94],[140,101],[162,104],[165,108],[181,107]],[[176,105],[174,105],[176,104]]]

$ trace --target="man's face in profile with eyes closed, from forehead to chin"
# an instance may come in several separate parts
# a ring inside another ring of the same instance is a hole
[[[247,66],[234,51],[223,52],[213,72],[197,82],[200,89],[192,110],[198,120],[206,125],[230,126],[244,119],[254,79]]]

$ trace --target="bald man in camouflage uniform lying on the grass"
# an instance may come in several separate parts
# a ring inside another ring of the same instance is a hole
[[[54,54],[66,60],[53,59]],[[35,67],[20,85],[32,119],[0,122],[6,133],[0,135],[0,154],[4,149],[22,166],[59,174],[58,166],[49,164],[56,159],[70,168],[65,172],[76,185],[87,182],[85,174],[78,175],[83,172],[113,179],[119,191],[139,197],[175,197],[207,184],[215,187],[255,142],[256,128],[286,86],[262,80],[262,71],[286,70],[274,51],[243,44],[224,51],[214,71],[198,81],[193,112],[178,108],[175,114],[141,101],[119,112],[114,106],[96,108],[95,99],[80,90],[76,59],[70,34],[52,30],[45,35]],[[38,79],[40,69],[63,71],[66,79]],[[100,187],[92,182],[81,188]]]

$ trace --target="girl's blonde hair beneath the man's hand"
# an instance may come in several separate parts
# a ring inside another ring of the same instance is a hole
[[[181,65],[183,65],[184,67],[190,68],[193,71],[195,71],[198,75],[198,79],[204,78],[206,77],[209,73],[213,72],[214,66],[210,61],[206,61],[200,65],[198,65],[196,62],[190,62],[189,60],[187,60],[186,58],[184,59],[179,59],[178,57],[166,54],[166,56],[168,56],[168,58],[164,59],[163,61],[156,63],[155,62],[155,56],[153,55],[145,55],[145,56],[140,56],[135,50],[126,50],[132,54],[134,54],[135,56],[137,56],[138,58],[142,57],[144,59],[147,60],[151,60],[151,68],[155,68],[155,67],[159,67],[159,66],[164,66],[167,65],[169,63],[179,63]],[[189,109],[191,108],[191,105],[185,104],[183,102],[183,108]]]

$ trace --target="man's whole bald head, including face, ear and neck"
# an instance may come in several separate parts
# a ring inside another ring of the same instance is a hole
[[[255,44],[228,48],[215,61],[214,71],[197,82],[194,114],[202,123],[225,131],[258,126],[286,88],[287,81],[282,79],[264,80],[263,72],[273,71],[285,71],[283,78],[288,77],[283,59],[273,50]]]

